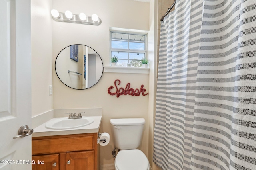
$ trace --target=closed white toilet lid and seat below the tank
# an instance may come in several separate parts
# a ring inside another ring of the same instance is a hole
[[[115,168],[116,170],[149,170],[149,162],[141,150],[121,150],[116,156]]]

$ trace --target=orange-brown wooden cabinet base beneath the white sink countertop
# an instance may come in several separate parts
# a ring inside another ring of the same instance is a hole
[[[98,133],[32,137],[32,170],[97,170]]]

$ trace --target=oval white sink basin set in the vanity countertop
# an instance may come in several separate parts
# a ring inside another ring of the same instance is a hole
[[[83,127],[94,122],[92,117],[82,117],[80,119],[68,119],[64,118],[55,118],[45,124],[45,127],[48,129],[74,129],[77,127]]]

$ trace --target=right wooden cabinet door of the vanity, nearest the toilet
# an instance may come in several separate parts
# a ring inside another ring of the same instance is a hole
[[[94,151],[66,153],[66,170],[94,170]]]

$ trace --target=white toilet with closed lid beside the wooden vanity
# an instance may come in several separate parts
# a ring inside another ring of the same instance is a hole
[[[149,170],[148,158],[137,149],[141,143],[145,119],[110,119],[110,123],[114,145],[120,149],[115,159],[115,170]]]

